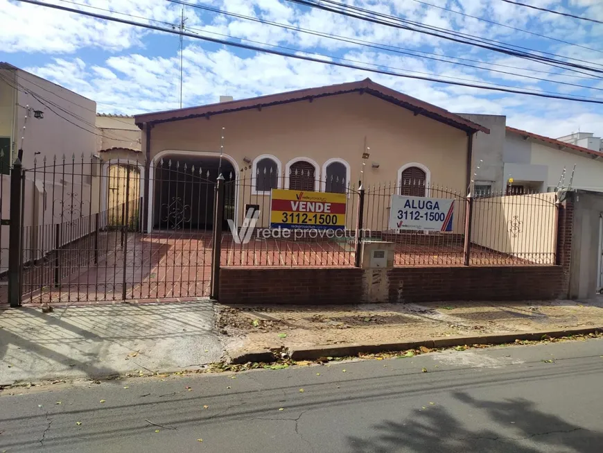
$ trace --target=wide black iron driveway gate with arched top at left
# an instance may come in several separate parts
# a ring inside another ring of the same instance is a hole
[[[16,294],[19,303],[209,296],[216,183],[209,171],[174,160],[143,173],[131,160],[71,156],[28,169],[15,162],[10,243],[21,252],[10,254],[12,297],[3,298],[15,305]]]

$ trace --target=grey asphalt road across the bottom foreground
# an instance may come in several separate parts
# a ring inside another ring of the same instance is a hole
[[[51,388],[0,452],[603,451],[603,340]]]

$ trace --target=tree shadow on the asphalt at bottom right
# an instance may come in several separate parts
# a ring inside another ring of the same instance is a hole
[[[478,400],[465,392],[453,397],[471,409],[471,418],[457,418],[441,406],[415,409],[400,422],[374,425],[374,436],[349,436],[350,452],[489,452],[539,453],[563,451],[600,452],[603,432],[566,422],[539,411],[524,398],[504,401]],[[468,408],[469,409],[469,408]],[[475,410],[482,414],[476,414]],[[473,424],[477,429],[469,426]],[[488,420],[488,421],[486,421]],[[489,427],[486,427],[486,424]]]

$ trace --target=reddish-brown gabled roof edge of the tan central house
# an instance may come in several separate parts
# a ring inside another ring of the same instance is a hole
[[[411,110],[414,114],[421,114],[425,117],[435,119],[441,123],[446,123],[454,128],[465,130],[469,133],[475,133],[481,130],[489,134],[490,130],[484,128],[478,123],[473,123],[457,114],[448,112],[436,105],[420,101],[396,90],[387,88],[371,79],[365,78],[359,82],[340,83],[338,85],[329,85],[326,87],[298,89],[292,92],[269,94],[267,96],[258,96],[256,98],[241,99],[239,101],[228,101],[209,105],[200,105],[198,107],[181,108],[177,110],[166,110],[164,112],[153,112],[134,115],[134,122],[139,127],[143,123],[165,123],[168,121],[178,121],[195,117],[211,117],[211,115],[236,112],[239,110],[249,110],[252,108],[268,107],[270,105],[291,103],[297,101],[312,101],[316,98],[335,96],[344,93],[367,93],[380,99],[394,103],[403,108]]]

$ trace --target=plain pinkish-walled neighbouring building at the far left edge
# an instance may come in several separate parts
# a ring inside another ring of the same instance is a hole
[[[96,102],[8,63],[0,62],[1,217],[10,218],[9,167],[24,172],[24,262],[54,245],[44,225],[98,212]],[[8,225],[0,234],[0,273],[8,266]],[[85,232],[65,232],[62,243]]]

